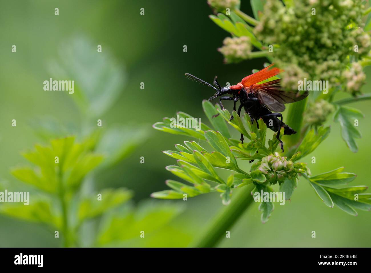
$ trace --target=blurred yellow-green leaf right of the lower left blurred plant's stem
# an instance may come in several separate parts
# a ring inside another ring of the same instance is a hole
[[[101,199],[98,199],[101,194]],[[128,201],[132,192],[127,189],[104,189],[102,192],[81,199],[78,208],[79,221],[97,217],[109,209],[115,208]]]

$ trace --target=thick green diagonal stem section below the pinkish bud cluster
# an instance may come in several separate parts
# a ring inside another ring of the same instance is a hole
[[[218,212],[201,237],[193,244],[193,247],[216,246],[221,238],[226,235],[226,231],[230,230],[246,209],[254,203],[251,195],[253,189],[253,184],[242,187],[231,203]]]

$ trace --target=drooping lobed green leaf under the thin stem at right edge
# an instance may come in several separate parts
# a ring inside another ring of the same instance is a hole
[[[360,111],[347,106],[340,106],[334,116],[334,120],[340,123],[342,138],[354,153],[358,151],[355,139],[361,138],[361,133],[355,128],[354,121],[350,121],[350,119],[362,117],[364,116]]]

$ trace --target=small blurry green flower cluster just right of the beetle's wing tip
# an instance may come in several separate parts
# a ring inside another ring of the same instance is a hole
[[[334,110],[335,106],[326,100],[311,102],[304,114],[305,123],[321,126]]]

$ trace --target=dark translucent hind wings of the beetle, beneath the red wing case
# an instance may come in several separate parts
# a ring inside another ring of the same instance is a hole
[[[275,112],[284,111],[285,105],[283,104],[301,101],[308,96],[308,92],[298,95],[296,92],[285,91],[280,85],[280,79],[263,84],[253,84],[250,90],[259,98],[260,103]]]

